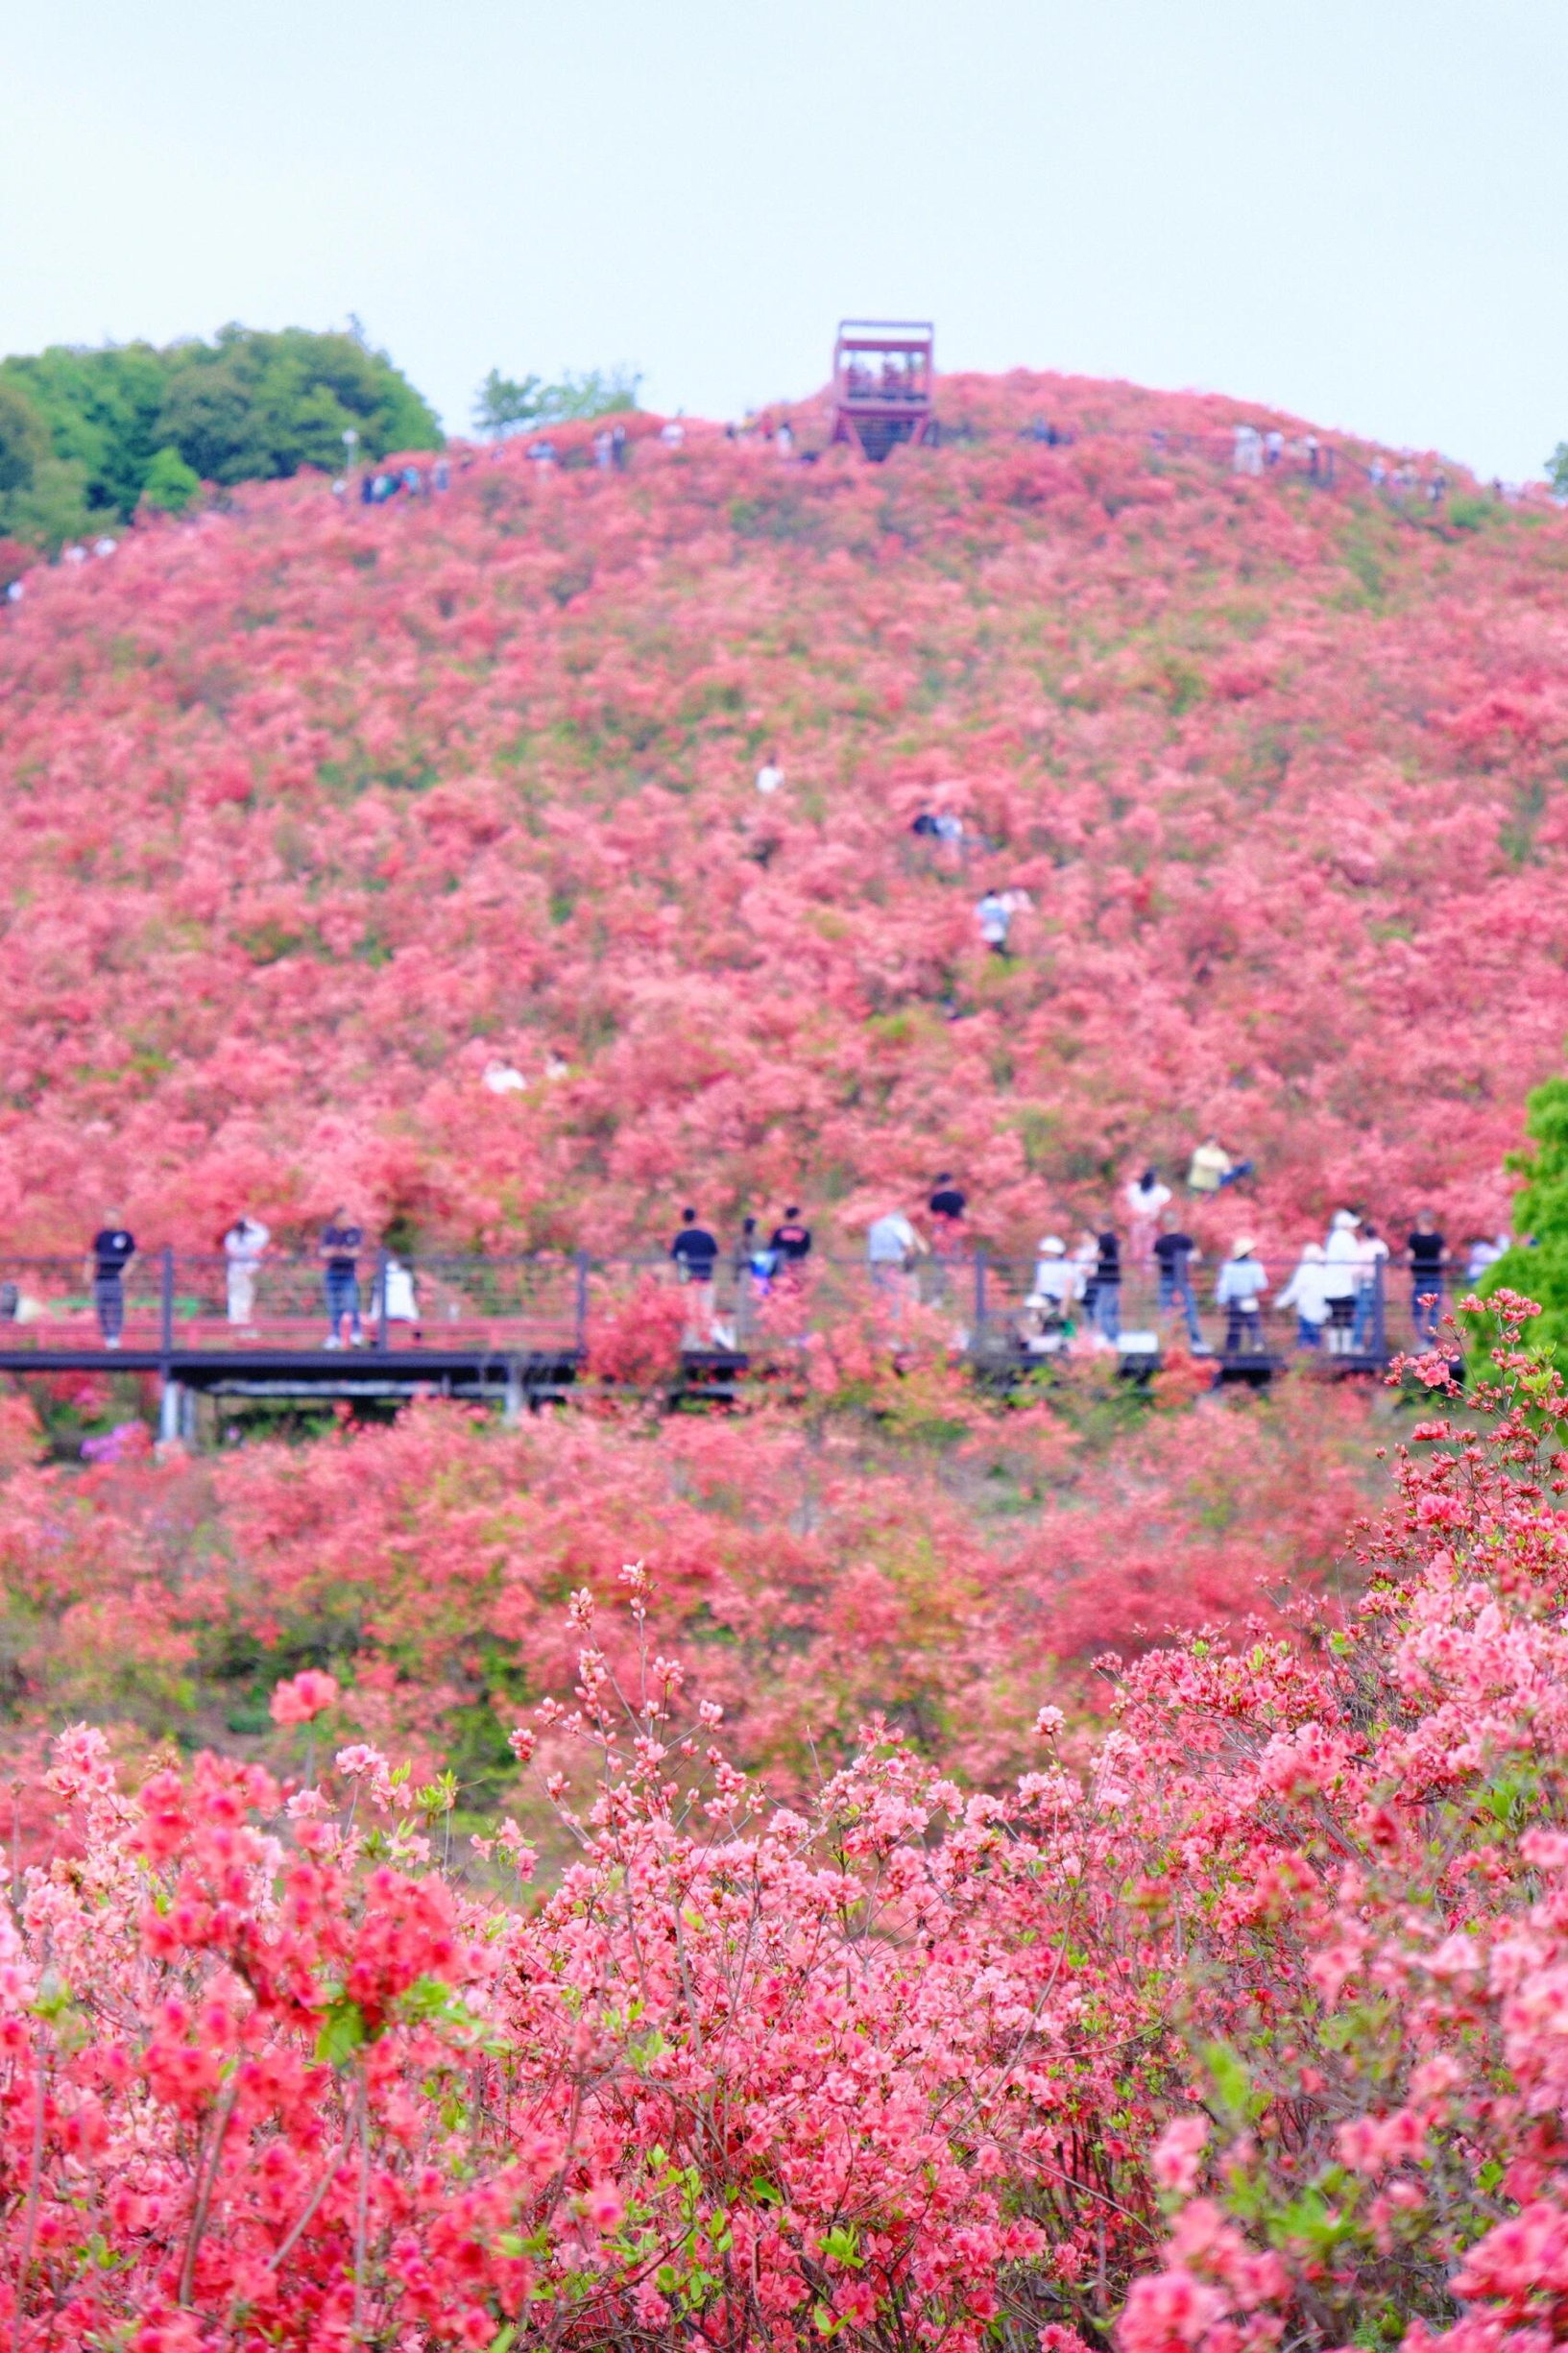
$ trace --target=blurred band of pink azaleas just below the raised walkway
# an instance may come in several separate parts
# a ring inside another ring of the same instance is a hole
[[[505,1732],[571,1673],[564,1595],[604,1602],[642,1558],[731,1753],[778,1795],[870,1711],[992,1779],[1027,1760],[1041,1704],[1105,1701],[1107,1642],[1281,1624],[1335,1579],[1378,1482],[1361,1400],[1305,1381],[1150,1414],[1117,1381],[1009,1409],[886,1353],[813,1372],[733,1417],[632,1400],[508,1431],[430,1402],[195,1459],[28,1461],[19,1426],[0,1758],[89,1718],[118,1753],[176,1739],[282,1769],[268,1692],[313,1668],[341,1685],[336,1737],[451,1769],[465,1812],[527,1812]]]

